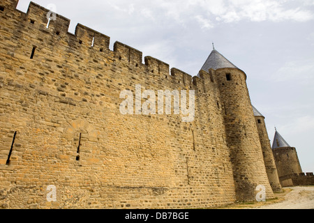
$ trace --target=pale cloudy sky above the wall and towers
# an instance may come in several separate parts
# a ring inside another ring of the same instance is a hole
[[[27,12],[28,0],[17,9]],[[314,0],[33,0],[195,76],[213,49],[248,76],[251,101],[314,172]]]

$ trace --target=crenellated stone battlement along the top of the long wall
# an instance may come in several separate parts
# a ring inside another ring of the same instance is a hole
[[[6,8],[8,6],[11,8],[10,10],[16,10],[17,3],[18,1],[6,0],[3,3],[3,7]],[[183,82],[186,86],[197,86],[197,83],[200,84],[200,82],[202,82],[202,78],[192,78],[191,75],[188,75],[186,72],[182,72],[177,68],[170,69],[169,64],[152,56],[145,56],[144,63],[142,63],[143,54],[140,50],[125,45],[124,43],[120,43],[119,41],[114,43],[113,50],[111,51],[109,49],[109,36],[84,26],[83,24],[77,24],[75,33],[70,33],[68,32],[70,25],[70,20],[68,18],[55,13],[56,20],[48,20],[47,15],[49,15],[49,13],[52,12],[47,8],[31,2],[27,9],[27,13],[22,13],[21,20],[22,18],[27,20],[28,23],[32,24],[31,27],[33,29],[38,29],[43,35],[60,36],[66,40],[68,47],[76,51],[75,54],[80,54],[80,50],[87,49],[94,49],[96,52],[107,52],[105,55],[110,55],[111,52],[115,59],[130,63],[135,67],[146,68],[154,75],[163,76],[165,78],[170,77],[170,79],[174,76],[180,76],[179,82]],[[43,39],[41,36],[40,38]]]

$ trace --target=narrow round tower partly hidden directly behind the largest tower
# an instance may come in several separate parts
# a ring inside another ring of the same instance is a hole
[[[264,163],[266,167],[266,172],[268,176],[271,189],[274,192],[281,192],[281,183],[278,178],[276,163],[274,160],[273,152],[271,151],[271,144],[269,141],[267,128],[265,124],[265,117],[253,107],[253,113],[255,116],[255,122],[257,125],[257,131],[260,136],[260,144],[262,146],[262,152],[264,157]]]

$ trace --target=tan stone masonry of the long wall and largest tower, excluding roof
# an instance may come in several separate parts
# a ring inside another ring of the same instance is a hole
[[[207,208],[255,199],[258,184],[272,197],[243,72],[170,72],[82,24],[68,33],[61,15],[46,28],[35,3],[1,4],[1,208]],[[223,86],[225,72],[237,78]],[[195,90],[195,120],[122,115],[120,93],[136,84]]]

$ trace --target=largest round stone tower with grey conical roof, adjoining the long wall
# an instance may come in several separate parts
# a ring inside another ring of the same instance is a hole
[[[255,200],[259,185],[264,186],[267,198],[274,197],[246,86],[246,74],[216,49],[211,52],[202,70],[213,72],[218,82],[223,103],[220,106],[225,110],[226,141],[230,148],[237,200]]]

